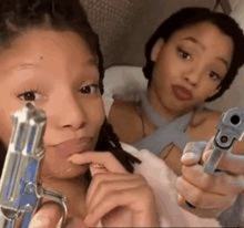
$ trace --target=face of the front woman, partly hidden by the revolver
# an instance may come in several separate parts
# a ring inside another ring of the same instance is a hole
[[[42,177],[71,178],[87,166],[69,156],[94,149],[104,121],[98,59],[74,32],[32,30],[0,55],[0,137],[8,145],[10,114],[27,101],[45,111]]]

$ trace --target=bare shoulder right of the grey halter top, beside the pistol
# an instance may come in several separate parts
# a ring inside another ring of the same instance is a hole
[[[215,127],[221,117],[220,111],[204,108],[197,112],[189,128],[189,134],[195,139],[210,139],[215,134]]]

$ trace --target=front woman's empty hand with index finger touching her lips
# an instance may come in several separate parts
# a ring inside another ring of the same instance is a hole
[[[104,167],[93,173],[88,189],[88,226],[94,227],[99,220],[109,226],[159,226],[154,195],[146,180],[128,173],[111,153],[87,152],[73,155],[70,162]]]

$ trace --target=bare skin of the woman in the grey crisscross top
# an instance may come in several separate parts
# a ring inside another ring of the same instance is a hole
[[[203,104],[207,97],[217,92],[217,85],[228,71],[232,55],[232,39],[207,22],[175,31],[167,42],[160,39],[151,53],[151,59],[155,62],[151,86],[148,89],[151,105],[162,116],[175,118]],[[193,99],[191,101],[177,100],[172,91],[174,84],[191,91]],[[186,129],[186,134],[193,141],[210,141],[215,133],[220,114],[220,112],[210,110],[199,111]],[[155,127],[144,114],[142,117],[145,134],[152,134]],[[126,124],[122,121],[124,118]],[[143,137],[141,116],[133,103],[115,101],[110,112],[110,122],[121,141],[125,143],[133,143]],[[237,144],[234,153],[243,153],[241,147],[241,143]],[[227,174],[213,177],[203,173],[202,166],[199,165],[201,157],[194,156],[181,159],[182,151],[176,146],[167,147],[166,156],[160,155],[179,176],[175,184],[179,190],[179,204],[195,213],[195,209],[189,209],[185,206],[185,200],[200,209],[206,207],[204,204],[207,201],[207,206],[216,208],[217,213],[197,210],[195,214],[202,217],[217,217],[223,209],[232,206],[236,195],[243,190],[240,186],[233,185],[233,182],[240,180],[236,179],[236,175],[243,174],[243,167],[224,158],[218,168],[227,170]],[[202,182],[197,182],[200,179]],[[220,189],[217,183],[221,182],[225,182],[227,187]],[[204,186],[201,183],[204,183]],[[210,185],[210,183],[214,184]]]

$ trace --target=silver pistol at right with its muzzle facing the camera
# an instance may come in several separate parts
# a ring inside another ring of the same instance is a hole
[[[234,143],[244,135],[244,108],[233,107],[222,114],[213,141],[213,153],[203,164],[204,172],[213,175],[221,158],[225,154],[228,160],[244,165],[244,156],[232,153]]]

